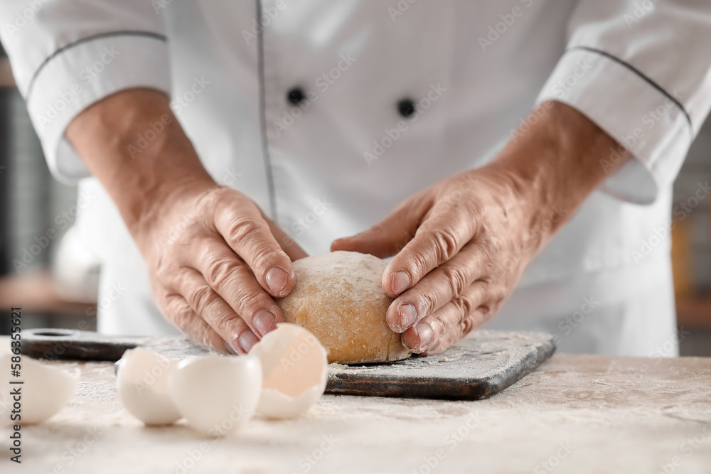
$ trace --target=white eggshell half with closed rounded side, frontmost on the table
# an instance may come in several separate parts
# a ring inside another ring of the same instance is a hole
[[[251,355],[191,357],[171,373],[169,386],[190,426],[210,436],[224,436],[255,413],[262,366]]]

